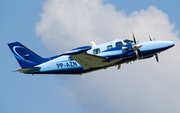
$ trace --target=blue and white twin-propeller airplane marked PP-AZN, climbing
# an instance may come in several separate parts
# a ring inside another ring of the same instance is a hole
[[[16,71],[24,74],[78,74],[107,69],[111,66],[121,68],[121,64],[130,63],[155,56],[175,45],[173,41],[152,40],[137,42],[133,40],[116,39],[110,42],[92,46],[82,46],[63,54],[43,58],[28,49],[20,42],[8,43],[10,50],[18,61],[21,69]]]

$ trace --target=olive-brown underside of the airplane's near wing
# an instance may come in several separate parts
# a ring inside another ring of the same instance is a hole
[[[87,53],[70,55],[76,60],[84,69],[91,69],[105,66],[108,62],[105,62],[105,57],[91,55]]]

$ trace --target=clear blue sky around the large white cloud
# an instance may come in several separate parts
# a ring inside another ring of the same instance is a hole
[[[79,79],[79,76],[32,76],[12,72],[20,67],[7,43],[19,41],[41,56],[55,55],[53,52],[47,52],[35,32],[35,24],[41,20],[39,14],[43,12],[43,2],[44,0],[0,1],[1,113],[81,113],[85,111],[82,103],[79,103],[74,97],[72,102],[67,100],[68,102],[64,103],[64,99],[67,98],[63,91],[71,92],[67,80]],[[127,15],[155,5],[169,16],[170,22],[175,23],[177,30],[180,29],[180,1],[178,0],[106,0],[103,3],[113,4],[117,11],[124,10]]]

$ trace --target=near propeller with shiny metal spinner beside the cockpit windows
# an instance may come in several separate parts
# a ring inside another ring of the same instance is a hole
[[[137,60],[139,60],[139,56],[141,56],[141,58],[143,58],[143,55],[142,55],[142,53],[141,53],[141,51],[139,50],[139,48],[142,46],[142,45],[140,45],[140,44],[137,44],[137,42],[136,42],[136,38],[135,38],[135,36],[134,36],[134,33],[133,33],[133,40],[134,40],[134,44],[135,45],[133,45],[133,50],[135,51],[135,53],[136,53],[136,58],[137,58]]]

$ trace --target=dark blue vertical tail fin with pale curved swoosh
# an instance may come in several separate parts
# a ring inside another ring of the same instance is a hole
[[[9,43],[8,46],[22,68],[34,67],[48,61],[19,42]]]

